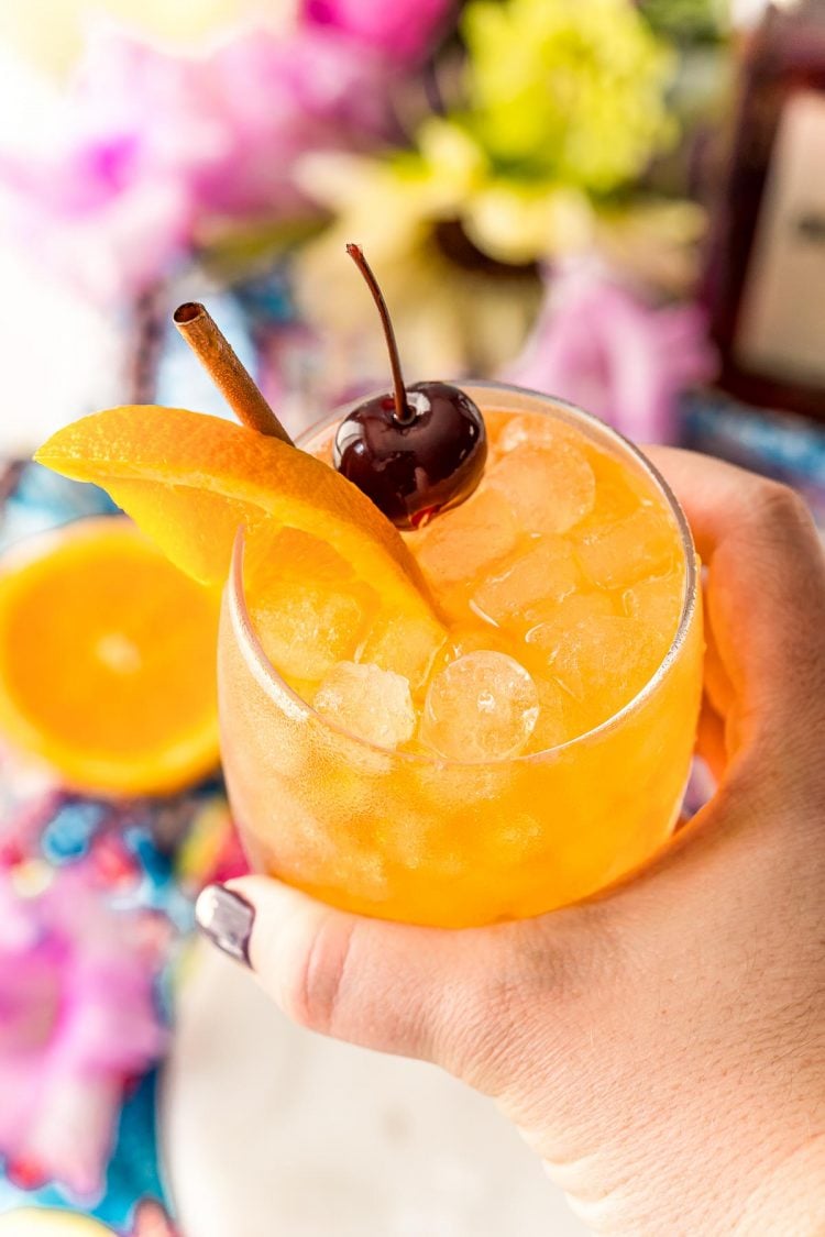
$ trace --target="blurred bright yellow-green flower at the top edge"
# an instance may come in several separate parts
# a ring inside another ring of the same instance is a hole
[[[471,0],[466,124],[510,176],[613,192],[674,136],[674,61],[632,0]]]

